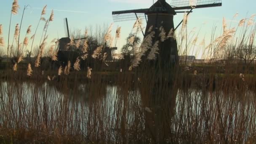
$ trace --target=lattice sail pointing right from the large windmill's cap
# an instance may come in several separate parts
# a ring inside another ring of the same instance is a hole
[[[208,8],[221,5],[221,0],[171,0],[171,6],[175,10]]]

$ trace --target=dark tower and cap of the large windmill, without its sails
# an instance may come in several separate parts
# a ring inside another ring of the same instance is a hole
[[[145,37],[149,34],[149,28],[155,31],[155,38],[153,43],[159,42],[159,55],[156,60],[160,61],[161,68],[169,68],[171,65],[179,63],[177,41],[175,38],[167,38],[164,41],[161,41],[160,27],[168,33],[174,29],[173,16],[176,15],[174,9],[165,2],[165,0],[158,0],[153,4],[147,11],[147,27],[145,31]]]

